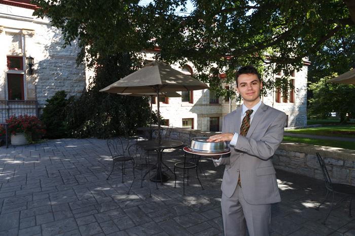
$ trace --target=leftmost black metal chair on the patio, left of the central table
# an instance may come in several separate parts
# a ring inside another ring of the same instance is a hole
[[[128,148],[132,141],[133,139],[123,138],[123,137],[109,138],[107,140],[107,146],[110,150],[111,157],[113,160],[112,170],[109,176],[107,177],[107,180],[110,178],[112,172],[114,171],[115,163],[121,163],[122,182],[124,182],[123,176],[125,175],[126,162],[132,163],[132,169],[134,175],[134,158],[131,157],[128,153]]]

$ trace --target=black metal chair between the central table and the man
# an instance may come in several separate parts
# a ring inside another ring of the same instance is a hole
[[[184,161],[183,162],[177,162],[175,163],[174,165],[174,176],[175,176],[175,185],[174,187],[176,187],[176,168],[177,169],[182,169],[183,171],[183,194],[185,195],[185,178],[187,178],[187,185],[189,185],[189,177],[195,177],[195,176],[190,176],[189,175],[189,170],[190,169],[195,169],[196,171],[196,178],[198,179],[201,187],[202,187],[202,190],[204,190],[203,186],[202,186],[202,183],[201,183],[201,180],[200,178],[198,177],[198,171],[197,169],[199,168],[198,166],[198,163],[201,159],[201,156],[199,155],[189,155],[187,157],[187,154],[185,153],[184,154]]]

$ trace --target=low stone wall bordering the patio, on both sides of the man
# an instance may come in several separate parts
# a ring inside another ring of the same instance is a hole
[[[163,126],[164,127],[164,126]],[[171,139],[180,140],[188,146],[193,137],[211,136],[217,132],[173,128]],[[334,183],[355,186],[355,151],[309,144],[281,143],[272,158],[276,169],[324,179],[316,153],[323,157]]]

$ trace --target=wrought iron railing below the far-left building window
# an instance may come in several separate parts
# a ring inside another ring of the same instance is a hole
[[[12,115],[38,116],[38,102],[33,100],[0,100],[0,123],[6,123],[6,119]]]

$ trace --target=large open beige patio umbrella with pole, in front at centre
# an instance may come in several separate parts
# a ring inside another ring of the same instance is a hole
[[[171,68],[168,64],[153,61],[140,70],[102,88],[101,92],[112,93],[147,93],[154,92],[159,97],[160,92],[190,91],[208,88],[208,85]],[[157,104],[159,113],[159,103]],[[158,116],[158,128],[160,119]],[[160,145],[160,132],[158,132]]]

